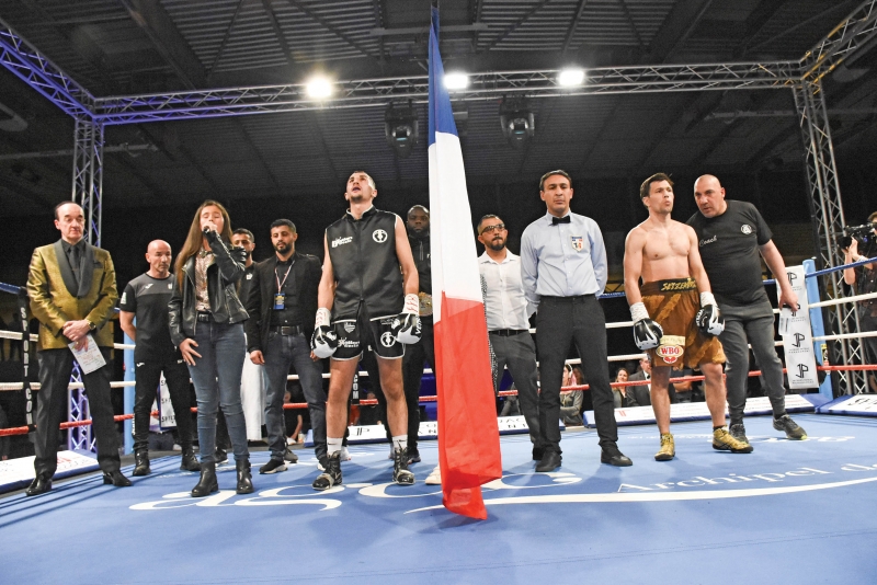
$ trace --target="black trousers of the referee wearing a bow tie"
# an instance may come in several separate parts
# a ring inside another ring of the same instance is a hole
[[[560,450],[560,385],[569,344],[582,359],[591,385],[600,446],[618,440],[618,426],[610,387],[606,359],[606,318],[593,295],[584,297],[543,297],[536,313],[536,345],[539,356],[539,429],[546,451]]]

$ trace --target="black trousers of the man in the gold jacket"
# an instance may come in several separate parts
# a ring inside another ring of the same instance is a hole
[[[113,420],[110,378],[113,372],[111,349],[101,347],[106,365],[82,376],[89,398],[91,428],[98,441],[98,464],[105,472],[118,471],[118,438]],[[36,399],[36,433],[34,436],[34,471],[50,478],[58,467],[58,425],[67,418],[67,386],[73,370],[70,349],[43,349],[39,360],[39,391]]]

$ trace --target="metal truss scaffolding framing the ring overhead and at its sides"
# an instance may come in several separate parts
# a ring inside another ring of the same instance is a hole
[[[494,100],[508,94],[527,97],[627,94],[709,90],[788,89],[795,96],[804,140],[804,160],[810,188],[811,213],[822,265],[838,265],[835,242],[843,225],[838,168],[822,92],[822,78],[877,37],[877,0],[866,0],[796,61],[626,66],[590,69],[581,85],[562,87],[557,70],[474,73],[469,87],[451,93],[452,101]],[[73,198],[89,216],[89,240],[100,243],[105,125],[171,119],[240,116],[272,112],[384,107],[411,100],[426,102],[428,78],[365,79],[334,83],[331,99],[317,101],[303,84],[192,90],[162,94],[95,99],[52,64],[39,50],[0,20],[0,64],[36,89],[76,123]],[[840,295],[839,276],[823,283],[827,297]],[[833,332],[857,331],[854,307],[838,306],[830,313]],[[844,363],[861,363],[857,340],[835,342],[834,355]],[[841,393],[865,391],[865,378],[844,375]]]

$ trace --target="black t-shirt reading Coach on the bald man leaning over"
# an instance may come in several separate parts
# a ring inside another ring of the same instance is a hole
[[[697,234],[713,294],[728,305],[765,301],[759,246],[770,242],[773,233],[754,205],[727,203],[720,216],[707,218],[697,211],[687,221]]]

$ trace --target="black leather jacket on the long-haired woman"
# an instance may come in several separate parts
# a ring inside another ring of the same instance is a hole
[[[207,243],[214,253],[214,263],[207,267],[207,296],[210,299],[213,318],[217,323],[240,323],[249,317],[236,290],[243,276],[247,252],[242,248],[229,250],[219,234],[212,231]],[[173,345],[195,335],[197,311],[195,310],[195,256],[183,265],[183,289],[173,287],[168,303],[169,325]]]

